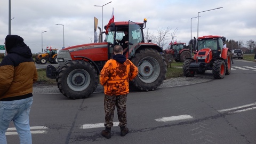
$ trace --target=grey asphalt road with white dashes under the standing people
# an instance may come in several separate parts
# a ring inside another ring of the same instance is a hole
[[[30,113],[33,143],[256,143],[255,87],[256,62],[234,60],[231,74],[223,79],[131,92],[130,132],[121,137],[114,126],[111,139],[100,134],[103,93],[79,100],[35,93]],[[116,111],[114,122],[118,125]],[[8,132],[7,141],[19,143],[15,131]]]

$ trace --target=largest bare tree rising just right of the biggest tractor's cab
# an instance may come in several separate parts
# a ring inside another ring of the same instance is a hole
[[[164,47],[167,43],[167,39],[169,38],[170,28],[167,27],[165,30],[163,28],[158,28],[157,35],[155,36],[155,42],[158,46]]]

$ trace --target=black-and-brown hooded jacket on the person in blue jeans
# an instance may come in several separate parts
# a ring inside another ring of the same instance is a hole
[[[5,38],[7,55],[0,63],[0,101],[32,97],[37,70],[29,47],[18,35]]]

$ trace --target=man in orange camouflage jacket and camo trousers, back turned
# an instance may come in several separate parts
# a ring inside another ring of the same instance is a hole
[[[114,57],[105,63],[100,72],[100,84],[104,86],[105,127],[103,137],[111,138],[115,106],[121,128],[121,136],[129,130],[126,126],[126,98],[129,93],[129,81],[138,75],[138,68],[123,55],[122,46],[114,46]]]

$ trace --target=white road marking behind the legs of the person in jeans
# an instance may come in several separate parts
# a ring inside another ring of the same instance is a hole
[[[31,126],[30,132],[31,132],[31,134],[43,134],[43,133],[47,133],[47,131],[45,129],[48,129],[48,127],[46,127],[46,126]],[[9,132],[9,131],[13,131],[13,132]],[[5,133],[5,135],[15,135],[15,134],[18,134],[15,127],[8,128],[7,132]]]

